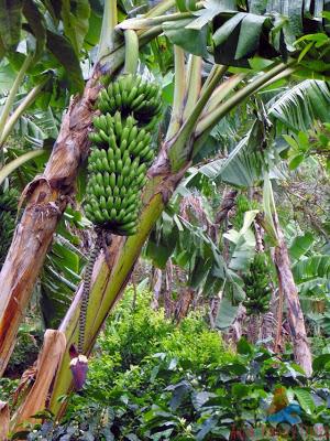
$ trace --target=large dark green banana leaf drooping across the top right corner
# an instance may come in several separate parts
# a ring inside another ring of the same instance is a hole
[[[321,20],[322,11],[328,8],[326,0],[319,1],[317,7],[304,0],[248,0],[240,4],[232,0],[205,0],[197,11],[187,8],[183,0],[179,3],[179,9],[190,11],[190,17],[165,22],[165,34],[186,51],[205,55],[210,51],[206,35],[211,32],[211,52],[218,64],[250,67],[249,60],[255,55],[264,58],[280,55],[284,60],[289,55],[298,57],[299,51],[294,43],[299,37],[314,33],[327,37],[329,33],[327,20]],[[193,41],[198,44],[191,45]],[[305,50],[305,57],[317,62],[318,71],[329,71],[327,55],[322,67],[320,53],[309,51],[311,46]],[[312,67],[308,63],[306,66]]]

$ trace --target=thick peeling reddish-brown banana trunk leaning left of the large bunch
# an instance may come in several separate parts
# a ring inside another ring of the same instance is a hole
[[[123,62],[123,51],[118,55],[111,66],[113,71]],[[82,96],[72,101],[44,174],[25,191],[28,204],[0,273],[0,376],[13,351],[19,325],[59,217],[74,192],[78,166],[88,153],[87,132],[100,75],[96,69]]]

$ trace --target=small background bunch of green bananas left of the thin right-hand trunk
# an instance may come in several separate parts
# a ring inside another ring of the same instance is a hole
[[[263,314],[270,309],[271,286],[270,269],[262,252],[255,255],[250,272],[243,276],[246,299],[243,302],[246,314]]]

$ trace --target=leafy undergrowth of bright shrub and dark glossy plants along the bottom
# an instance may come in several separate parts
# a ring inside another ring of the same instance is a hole
[[[131,293],[132,294],[132,293]],[[128,293],[107,324],[66,421],[29,440],[328,440],[330,355],[315,376],[244,340],[233,354],[199,315],[179,327]],[[327,438],[328,437],[328,438]]]

